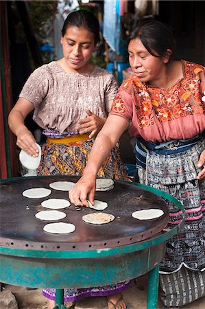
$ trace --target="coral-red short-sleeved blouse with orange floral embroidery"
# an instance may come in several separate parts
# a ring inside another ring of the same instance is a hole
[[[181,60],[184,77],[169,89],[151,87],[135,74],[125,80],[112,103],[110,115],[120,115],[130,124],[130,135],[161,143],[189,139],[205,130],[202,99],[202,65]]]

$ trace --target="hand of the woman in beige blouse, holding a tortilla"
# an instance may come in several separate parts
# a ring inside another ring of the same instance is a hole
[[[38,147],[32,133],[26,128],[21,128],[16,134],[16,145],[27,152],[32,157],[38,157]]]

